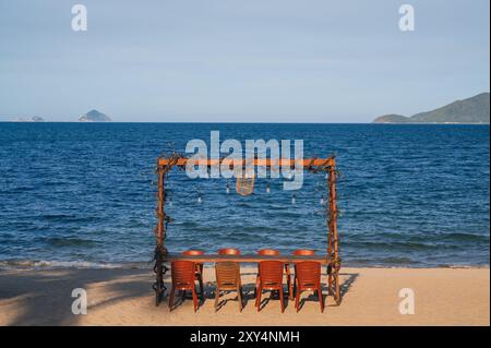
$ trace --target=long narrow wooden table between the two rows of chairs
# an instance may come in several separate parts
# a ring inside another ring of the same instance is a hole
[[[258,254],[242,254],[242,255],[217,255],[217,254],[208,254],[208,255],[182,255],[170,253],[166,256],[167,261],[192,261],[195,263],[215,263],[215,262],[239,262],[239,263],[258,263],[261,261],[279,261],[285,264],[285,269],[288,279],[288,297],[294,300],[294,286],[290,279],[290,265],[296,262],[301,261],[314,261],[319,262],[322,265],[331,264],[331,260],[327,259],[327,255],[310,255],[310,256],[297,256],[297,255],[276,255],[276,256],[266,256],[266,255],[258,255]]]

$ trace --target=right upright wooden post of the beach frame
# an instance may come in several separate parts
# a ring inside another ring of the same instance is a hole
[[[331,259],[328,269],[328,288],[331,295],[334,296],[336,303],[340,303],[339,289],[339,242],[337,233],[337,193],[336,193],[336,160],[333,158],[332,166],[328,168],[327,175],[330,204],[327,214],[328,237],[327,237],[327,255]]]

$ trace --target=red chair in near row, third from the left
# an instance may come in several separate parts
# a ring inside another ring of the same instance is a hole
[[[259,263],[259,285],[256,287],[255,307],[258,312],[261,308],[261,296],[263,290],[278,291],[282,313],[285,312],[285,302],[283,297],[283,267],[280,261],[262,261]]]

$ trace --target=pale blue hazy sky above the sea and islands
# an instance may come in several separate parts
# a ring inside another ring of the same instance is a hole
[[[74,32],[71,9],[87,9]],[[399,29],[399,7],[415,31]],[[370,122],[489,92],[489,0],[0,0],[0,120]]]

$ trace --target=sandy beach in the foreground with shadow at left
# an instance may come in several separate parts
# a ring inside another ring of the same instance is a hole
[[[233,293],[223,298],[228,301],[215,313],[213,268],[205,269],[207,299],[197,313],[189,299],[169,313],[166,302],[155,307],[151,269],[0,271],[0,325],[490,324],[489,268],[343,268],[343,303],[337,307],[328,297],[324,313],[308,292],[299,313],[294,302],[288,302],[280,314],[275,298],[265,300],[256,313],[252,300],[254,277],[254,267],[242,267],[247,292],[242,313],[238,312]],[[87,291],[87,314],[72,313],[74,288]],[[403,288],[414,290],[415,314],[399,313]]]

